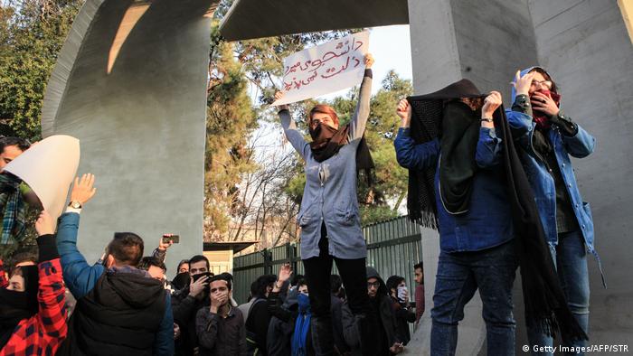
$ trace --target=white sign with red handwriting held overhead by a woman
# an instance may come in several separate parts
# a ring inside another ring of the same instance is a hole
[[[363,80],[369,32],[354,33],[284,59],[283,105],[354,87]]]

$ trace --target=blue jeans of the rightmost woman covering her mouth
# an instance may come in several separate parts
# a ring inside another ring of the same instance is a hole
[[[552,258],[556,261],[558,279],[561,281],[562,291],[567,304],[576,321],[585,333],[589,334],[589,272],[587,270],[587,251],[580,231],[558,234],[558,246],[550,246]],[[527,338],[530,341],[533,355],[553,355],[552,351],[534,352],[534,346],[546,346],[552,350],[551,337],[528,328]],[[585,341],[567,342],[562,340],[563,346],[585,346]],[[544,349],[544,350],[548,350]],[[573,353],[582,355],[581,353]]]

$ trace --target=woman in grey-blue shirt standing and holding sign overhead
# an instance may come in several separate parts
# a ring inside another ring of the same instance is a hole
[[[365,149],[359,149],[369,117],[373,57],[366,54],[360,98],[349,125],[339,126],[333,108],[316,105],[307,117],[312,142],[280,106],[281,126],[290,144],[306,161],[306,187],[298,214],[301,227],[301,258],[306,269],[312,308],[312,339],[317,355],[334,354],[330,314],[330,274],[333,260],[343,278],[349,306],[358,323],[363,354],[373,354],[375,315],[367,295],[364,242],[356,199],[356,170],[371,165]],[[276,99],[283,93],[275,94]],[[358,155],[356,152],[358,151]],[[364,159],[366,158],[366,159]]]

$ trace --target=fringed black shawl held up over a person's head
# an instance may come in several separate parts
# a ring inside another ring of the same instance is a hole
[[[446,100],[481,97],[483,95],[472,82],[459,80],[435,93],[408,98],[412,107],[411,137],[416,144],[421,144],[442,135],[440,118],[444,117],[443,103]],[[534,201],[534,193],[516,152],[503,105],[496,109],[493,119],[497,127],[496,135],[501,138],[503,145],[502,164],[506,192],[512,209],[516,256],[521,267],[526,323],[550,336],[555,336],[558,329],[562,333],[562,339],[566,341],[588,340],[562,292]],[[447,123],[444,124],[447,128]],[[409,174],[408,208],[412,213],[411,219],[420,220],[421,217],[421,222],[430,226],[429,222],[437,221],[433,194],[435,169],[409,171]]]

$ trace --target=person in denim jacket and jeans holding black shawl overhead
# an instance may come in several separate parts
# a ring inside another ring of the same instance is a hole
[[[458,323],[477,289],[488,354],[515,354],[513,220],[493,119],[501,103],[499,92],[482,95],[459,80],[397,106],[402,124],[394,145],[409,169],[410,217],[439,230],[432,355],[455,354]]]

